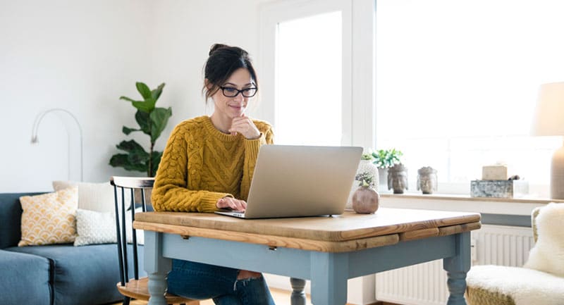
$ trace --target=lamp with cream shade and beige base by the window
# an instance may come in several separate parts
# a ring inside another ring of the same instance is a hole
[[[541,85],[532,135],[564,135],[564,82]],[[552,156],[551,198],[564,199],[564,145]]]

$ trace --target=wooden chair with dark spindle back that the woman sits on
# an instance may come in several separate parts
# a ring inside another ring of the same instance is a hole
[[[139,276],[139,248],[142,246],[137,242],[137,234],[131,223],[135,220],[135,213],[147,211],[145,195],[147,194],[147,189],[152,189],[154,178],[114,176],[111,177],[110,183],[114,185],[116,236],[120,269],[120,282],[116,286],[119,292],[123,294],[123,305],[128,305],[131,299],[149,301],[149,290],[147,288],[149,279],[147,277],[140,278]],[[140,202],[135,202],[136,194],[140,194],[140,196],[137,196],[140,198],[137,199]],[[121,211],[125,211],[125,213]],[[128,243],[128,239],[131,240],[130,243]],[[133,253],[128,256],[128,251]],[[132,256],[133,261],[130,261]],[[130,278],[130,269],[132,267],[133,277]],[[186,299],[174,294],[167,293],[165,297],[167,304],[200,304],[198,300]]]

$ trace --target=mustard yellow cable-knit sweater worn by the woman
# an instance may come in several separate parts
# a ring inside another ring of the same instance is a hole
[[[271,125],[252,120],[258,139],[226,135],[208,116],[176,125],[164,149],[155,178],[156,211],[213,212],[226,196],[247,200],[259,147],[272,144]]]

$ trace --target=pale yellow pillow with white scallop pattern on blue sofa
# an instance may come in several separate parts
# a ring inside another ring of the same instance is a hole
[[[18,247],[74,242],[78,187],[23,196],[20,202],[23,209],[22,239]]]

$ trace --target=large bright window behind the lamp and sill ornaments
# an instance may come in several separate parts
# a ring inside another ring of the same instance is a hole
[[[558,137],[530,137],[537,89],[564,79],[558,0],[379,0],[376,148],[438,170],[439,192],[468,193],[482,166],[508,164],[548,196]]]

